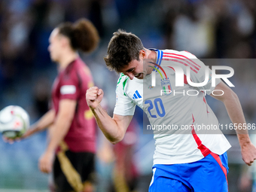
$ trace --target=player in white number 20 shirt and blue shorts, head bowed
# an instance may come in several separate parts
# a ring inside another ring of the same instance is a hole
[[[122,30],[114,32],[104,59],[109,69],[120,73],[114,116],[111,118],[102,109],[103,91],[98,87],[87,90],[87,104],[111,143],[123,139],[136,105],[148,115],[151,127],[175,125],[177,128],[154,129],[156,149],[149,191],[228,191],[226,151],[230,144],[220,130],[199,131],[196,125],[218,125],[206,102],[206,93],[224,102],[233,123],[243,125],[245,117],[236,93],[221,80],[212,87],[212,79],[206,79],[206,66],[193,54],[146,49],[136,35]],[[201,83],[206,79],[206,84],[192,87],[184,81],[183,87],[176,86],[175,70],[186,72],[187,68],[190,71],[186,74],[190,75],[188,80]],[[209,74],[211,77],[211,71]],[[155,79],[154,86],[152,78]],[[197,94],[185,94],[191,90]],[[184,127],[190,127],[190,130],[182,129]],[[256,148],[251,144],[247,130],[236,130],[236,133],[242,158],[250,166],[256,159]]]

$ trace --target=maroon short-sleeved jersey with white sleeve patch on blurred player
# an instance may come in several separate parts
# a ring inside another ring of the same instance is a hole
[[[64,139],[70,151],[96,151],[96,122],[85,98],[87,89],[92,86],[90,69],[79,57],[59,72],[53,83],[52,101],[56,115],[61,99],[77,101],[72,124]]]

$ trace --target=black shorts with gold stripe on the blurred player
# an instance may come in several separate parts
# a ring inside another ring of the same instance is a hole
[[[82,191],[84,184],[95,181],[95,154],[61,151],[53,163],[56,192]]]

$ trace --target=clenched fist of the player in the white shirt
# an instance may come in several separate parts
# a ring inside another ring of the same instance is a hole
[[[99,89],[98,87],[90,87],[86,93],[87,105],[91,109],[97,108],[99,103],[102,101],[103,98],[103,90]]]

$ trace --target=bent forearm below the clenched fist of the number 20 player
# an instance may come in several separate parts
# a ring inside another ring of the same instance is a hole
[[[96,122],[105,137],[112,144],[120,142],[123,139],[124,133],[117,125],[117,122],[107,114],[101,105],[98,105],[97,108],[91,108],[91,110],[93,111]]]

